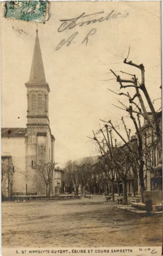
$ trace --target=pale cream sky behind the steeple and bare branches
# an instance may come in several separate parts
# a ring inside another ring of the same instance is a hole
[[[103,126],[100,119],[112,120],[124,132],[121,117],[126,113],[113,106],[120,106],[117,99],[122,97],[108,89],[120,92],[110,69],[136,74],[141,80],[139,70],[123,63],[129,47],[128,60],[145,66],[145,85],[151,99],[161,97],[160,7],[159,1],[50,2],[51,15],[45,24],[38,24],[38,33],[50,87],[49,119],[55,137],[55,161],[60,166],[68,160],[97,154],[95,142],[88,137],[92,138],[92,130]],[[112,18],[107,18],[110,13]],[[81,14],[88,16],[76,20],[73,28],[66,28],[70,21],[61,26],[61,20],[72,20]],[[103,21],[80,26],[95,18]],[[2,127],[26,127],[25,83],[29,80],[35,29],[35,22],[1,18]],[[128,78],[124,74],[122,77]],[[132,89],[123,89],[127,91],[133,94]],[[127,104],[125,98],[123,102]],[[155,110],[160,104],[161,100],[154,102]],[[125,122],[134,134],[129,118]]]

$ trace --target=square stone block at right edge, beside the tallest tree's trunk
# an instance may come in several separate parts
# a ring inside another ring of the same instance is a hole
[[[163,204],[163,192],[162,191],[144,191],[144,203],[146,200],[151,200],[153,205]],[[148,197],[149,196],[149,197]]]

